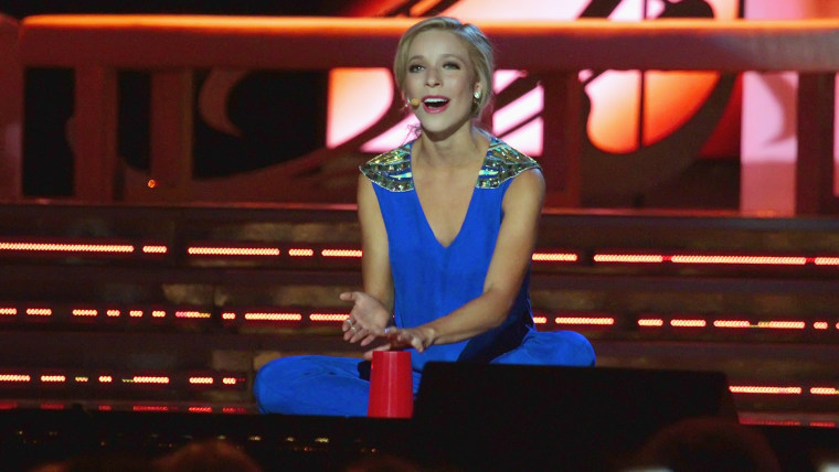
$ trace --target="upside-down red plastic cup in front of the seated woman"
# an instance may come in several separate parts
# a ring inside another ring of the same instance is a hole
[[[414,412],[414,387],[411,352],[374,351],[370,366],[368,416],[411,418]]]

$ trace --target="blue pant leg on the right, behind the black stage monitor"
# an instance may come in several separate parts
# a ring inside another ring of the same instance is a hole
[[[501,354],[491,364],[563,365],[593,367],[592,343],[573,331],[531,331],[519,347]]]

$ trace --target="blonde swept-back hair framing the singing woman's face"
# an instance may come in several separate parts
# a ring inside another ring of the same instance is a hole
[[[396,46],[396,56],[393,60],[393,76],[396,78],[396,85],[401,90],[404,90],[405,75],[407,74],[407,51],[411,49],[411,43],[420,33],[429,30],[449,31],[466,44],[469,61],[480,83],[480,98],[472,107],[472,117],[480,118],[490,98],[492,98],[495,58],[489,40],[474,24],[461,23],[459,20],[450,17],[432,17],[408,28],[400,39],[399,46]]]

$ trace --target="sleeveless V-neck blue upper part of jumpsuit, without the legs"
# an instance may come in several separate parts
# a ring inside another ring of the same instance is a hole
[[[503,219],[501,202],[512,179],[539,169],[533,159],[492,138],[472,190],[460,232],[439,244],[414,190],[410,142],[360,167],[373,182],[387,232],[396,326],[413,328],[458,309],[484,292],[484,282]],[[412,350],[415,371],[429,361],[489,362],[519,346],[533,329],[529,273],[507,320],[469,340]]]

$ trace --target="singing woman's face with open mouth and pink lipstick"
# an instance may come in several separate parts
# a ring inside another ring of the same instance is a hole
[[[479,83],[463,41],[444,30],[424,31],[407,52],[404,94],[423,131],[452,133],[471,120],[472,99]]]

